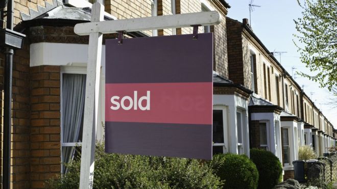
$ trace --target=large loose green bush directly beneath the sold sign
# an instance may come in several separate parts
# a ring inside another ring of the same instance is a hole
[[[78,188],[80,159],[66,165],[50,188]],[[97,145],[93,188],[219,188],[222,182],[207,164],[196,159],[109,154]]]

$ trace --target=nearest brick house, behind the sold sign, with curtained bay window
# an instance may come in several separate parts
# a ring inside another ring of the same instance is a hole
[[[74,25],[90,20],[91,5],[84,0],[14,1],[14,30],[27,37],[23,48],[15,50],[13,61],[13,188],[45,187],[45,180],[66,172],[61,163],[73,158],[75,146],[81,143],[88,36],[75,35]],[[225,18],[228,8],[223,0],[105,1],[105,20],[212,10]],[[192,28],[165,29],[126,33],[125,37],[191,32]],[[214,82],[213,105],[219,115],[214,121],[222,120],[214,129],[214,152],[249,155],[251,91],[228,80],[226,20],[216,26],[200,27],[199,32],[214,34],[213,76],[218,82]],[[104,35],[105,39],[115,37]],[[3,53],[0,60],[4,66]],[[101,86],[104,74],[103,47]],[[104,99],[104,88],[100,87],[100,91]],[[104,123],[102,100],[100,106],[99,120]],[[103,139],[103,124],[98,128],[97,139]]]

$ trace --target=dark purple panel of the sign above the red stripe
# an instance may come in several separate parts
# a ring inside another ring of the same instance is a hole
[[[106,83],[212,82],[212,49],[212,33],[106,40]]]

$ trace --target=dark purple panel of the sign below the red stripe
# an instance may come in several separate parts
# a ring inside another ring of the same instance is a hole
[[[105,151],[211,159],[211,133],[211,125],[106,122]]]

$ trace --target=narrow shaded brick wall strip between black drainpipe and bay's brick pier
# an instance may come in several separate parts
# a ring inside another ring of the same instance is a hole
[[[11,187],[29,187],[30,78],[29,44],[15,50],[12,78]],[[2,100],[4,96],[2,95]],[[2,112],[2,116],[3,116]]]

